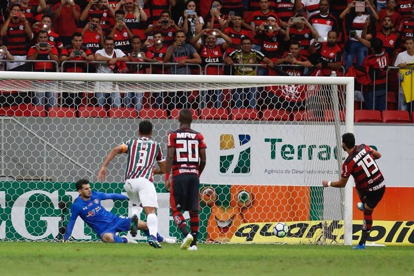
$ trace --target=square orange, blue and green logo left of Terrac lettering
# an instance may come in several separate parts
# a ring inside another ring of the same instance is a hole
[[[251,173],[250,148],[250,135],[220,135],[220,174],[249,175]]]

